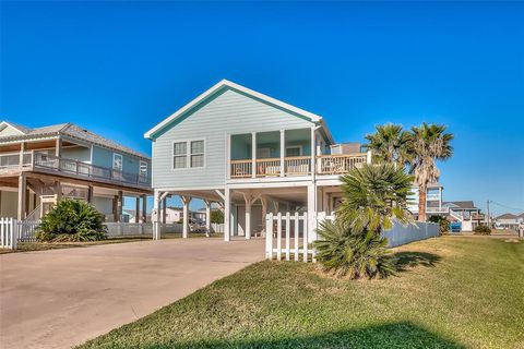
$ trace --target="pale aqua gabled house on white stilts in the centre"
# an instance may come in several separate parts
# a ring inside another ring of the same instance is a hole
[[[263,231],[270,212],[308,212],[312,231],[317,213],[331,213],[340,202],[340,174],[371,159],[355,144],[335,144],[322,117],[226,80],[145,137],[153,148],[155,207],[181,195],[187,210],[199,197],[209,216],[217,202],[226,241]]]

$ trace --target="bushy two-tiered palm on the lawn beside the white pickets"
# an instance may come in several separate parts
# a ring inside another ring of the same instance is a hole
[[[386,277],[394,272],[382,230],[392,219],[410,221],[405,206],[413,178],[404,167],[379,164],[341,177],[344,200],[335,221],[325,221],[313,242],[325,272],[349,278]]]

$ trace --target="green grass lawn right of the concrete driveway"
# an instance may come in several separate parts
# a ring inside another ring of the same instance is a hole
[[[395,253],[403,272],[372,281],[258,263],[81,348],[524,348],[523,241]]]

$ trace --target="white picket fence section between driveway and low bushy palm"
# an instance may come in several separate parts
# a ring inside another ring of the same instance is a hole
[[[267,214],[265,217],[265,257],[282,261],[312,261],[315,262],[314,251],[308,243],[308,214],[291,215],[281,213]]]

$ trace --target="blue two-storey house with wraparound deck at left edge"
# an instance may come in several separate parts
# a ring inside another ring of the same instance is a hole
[[[124,195],[136,197],[145,216],[151,159],[73,123],[29,129],[2,121],[0,181],[0,217],[38,219],[68,196],[118,221]]]

